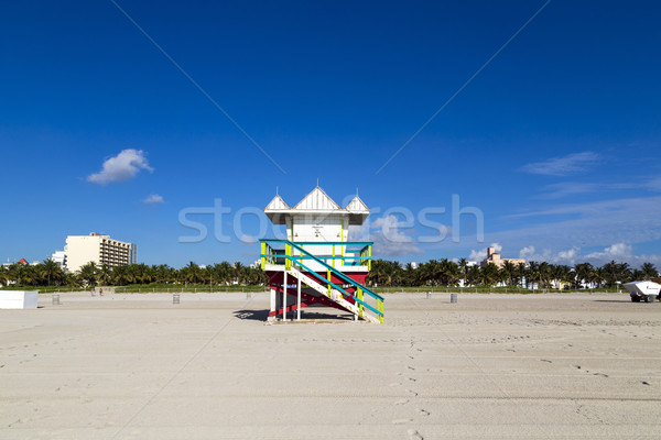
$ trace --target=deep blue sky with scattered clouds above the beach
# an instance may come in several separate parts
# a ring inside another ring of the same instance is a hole
[[[250,212],[318,178],[358,187],[381,257],[661,266],[661,7],[544,4],[8,3],[0,258],[99,231],[148,264],[252,262]]]

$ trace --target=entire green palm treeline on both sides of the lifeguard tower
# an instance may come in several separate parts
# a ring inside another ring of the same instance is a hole
[[[486,266],[468,265],[465,258],[455,263],[449,260],[431,260],[414,267],[403,266],[397,261],[375,260],[367,277],[369,286],[377,287],[422,287],[422,286],[521,286],[534,283],[539,288],[581,288],[615,287],[618,283],[650,279],[658,277],[659,272],[651,263],[632,268],[627,263],[611,261],[600,267],[589,263],[574,266],[530,262],[514,265],[505,262],[502,267],[494,264]],[[109,267],[106,264],[88,263],[80,271],[72,274],[62,271],[52,260],[40,264],[14,263],[0,266],[0,285],[17,284],[21,286],[69,286],[87,287],[95,285],[145,285],[145,284],[206,284],[206,285],[246,285],[258,286],[268,283],[266,273],[259,267],[245,266],[236,262],[223,262],[199,266],[191,262],[182,268],[166,264],[147,265],[131,264]],[[523,285],[525,283],[525,285]]]

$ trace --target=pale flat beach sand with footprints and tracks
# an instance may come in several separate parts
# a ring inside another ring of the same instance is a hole
[[[0,310],[2,439],[658,439],[661,304],[387,295],[383,326],[268,294]]]

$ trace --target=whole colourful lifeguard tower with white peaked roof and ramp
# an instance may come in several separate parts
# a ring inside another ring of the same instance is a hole
[[[383,322],[383,298],[365,286],[372,242],[347,241],[349,226],[360,226],[369,209],[358,195],[340,208],[318,186],[290,208],[277,195],[264,208],[273,224],[284,224],[286,240],[261,240],[261,267],[269,277],[269,320],[288,319],[313,304]]]

